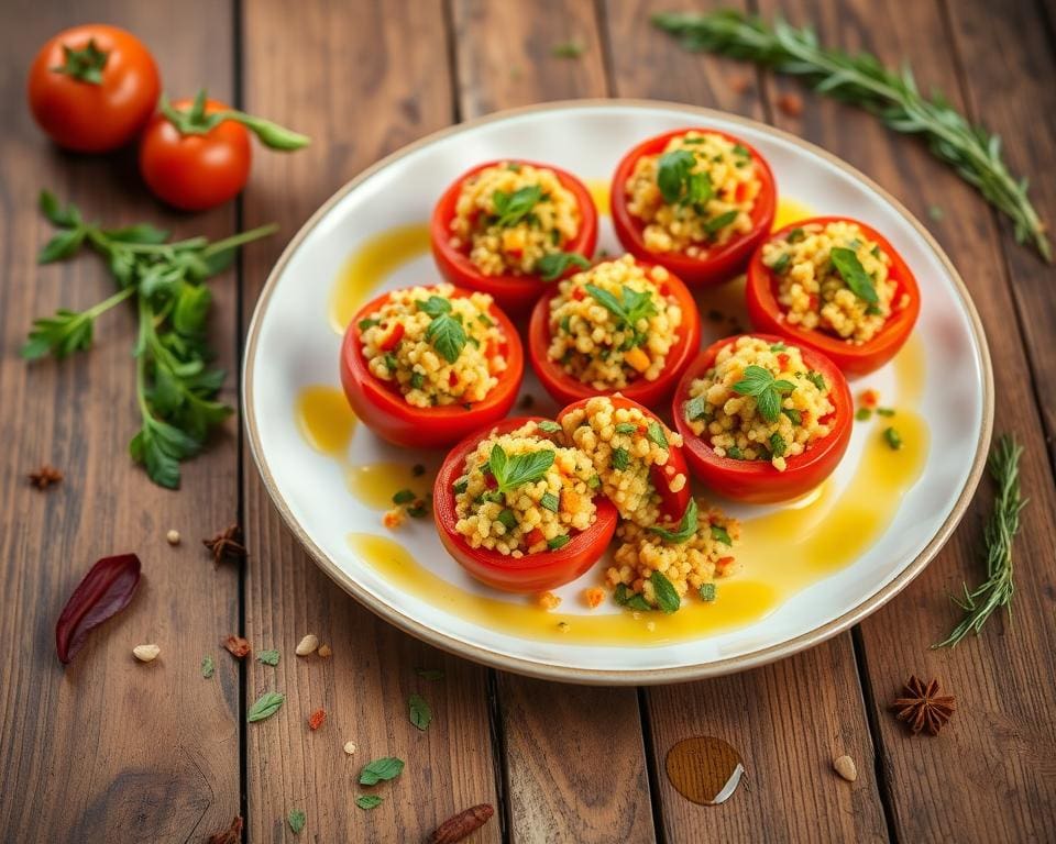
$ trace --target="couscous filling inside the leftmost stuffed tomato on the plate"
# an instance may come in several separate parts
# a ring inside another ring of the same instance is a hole
[[[396,290],[359,322],[371,374],[417,408],[482,401],[506,370],[505,337],[488,314],[492,297],[453,297],[453,290],[446,284]]]

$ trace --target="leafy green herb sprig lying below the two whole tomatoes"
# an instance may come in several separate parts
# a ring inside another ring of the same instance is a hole
[[[135,357],[136,403],[142,424],[129,444],[136,463],[155,484],[179,486],[179,463],[205,445],[209,433],[232,409],[215,397],[223,384],[211,368],[206,322],[212,293],[202,284],[230,266],[243,244],[273,234],[263,225],[210,243],[190,237],[166,243],[168,232],[147,223],[103,229],[85,221],[79,209],[41,193],[41,211],[59,231],[41,251],[41,264],[64,260],[85,245],[107,260],[118,292],[85,311],[58,310],[34,321],[22,356],[51,353],[62,359],[90,348],[96,320],[123,301],[135,300],[139,332]]]

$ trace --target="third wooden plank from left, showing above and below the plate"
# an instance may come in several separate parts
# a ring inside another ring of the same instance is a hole
[[[493,109],[603,97],[605,70],[590,3],[454,0],[459,102],[464,118]],[[579,58],[550,55],[576,41]],[[510,73],[524,68],[524,73]],[[499,675],[498,706],[515,842],[653,840],[634,689],[573,688]],[[597,713],[604,712],[604,729]],[[560,760],[556,764],[556,760]]]

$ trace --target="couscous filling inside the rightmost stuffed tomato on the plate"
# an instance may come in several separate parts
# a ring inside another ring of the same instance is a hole
[[[809,223],[762,247],[778,277],[778,302],[790,325],[817,329],[848,343],[872,340],[892,309],[891,257],[848,221]]]

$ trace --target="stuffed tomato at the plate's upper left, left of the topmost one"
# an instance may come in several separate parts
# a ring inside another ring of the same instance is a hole
[[[549,284],[587,265],[597,210],[586,186],[558,167],[488,162],[443,192],[429,233],[449,281],[488,293],[516,314]]]

